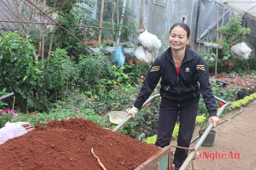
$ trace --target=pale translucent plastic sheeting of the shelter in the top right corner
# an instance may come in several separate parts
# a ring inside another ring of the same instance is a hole
[[[231,2],[240,3],[239,9],[233,8]],[[241,5],[241,2],[243,5]],[[247,3],[245,3],[247,2]],[[223,4],[226,3],[226,4]],[[220,2],[210,1],[210,0],[201,0],[199,3],[199,18],[197,26],[197,36],[196,41],[204,42],[206,40],[216,40],[216,32],[212,30],[217,30],[217,9],[218,9],[218,19],[219,19],[219,28],[225,26],[228,22],[228,19],[233,16],[241,16],[243,19],[243,27],[250,28],[251,34],[247,35],[247,42],[256,47],[256,18],[251,16],[248,13],[244,13],[243,10],[250,11],[248,6],[251,7],[251,10],[254,9],[253,4],[256,3],[256,0],[221,0]],[[248,5],[250,4],[250,5]],[[256,9],[254,9],[256,12]],[[255,13],[256,15],[256,13]],[[208,28],[208,29],[207,29]],[[212,30],[210,30],[212,29]]]

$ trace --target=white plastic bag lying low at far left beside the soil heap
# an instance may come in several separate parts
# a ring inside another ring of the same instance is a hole
[[[17,122],[17,123],[6,123],[5,127],[0,129],[0,144],[3,144],[8,139],[24,135],[27,130],[22,126],[23,124],[29,124],[26,122]]]

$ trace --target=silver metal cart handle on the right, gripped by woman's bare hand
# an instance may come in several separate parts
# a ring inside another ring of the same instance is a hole
[[[216,98],[217,100],[221,100],[221,99],[217,98],[216,96],[215,96],[215,98]],[[224,100],[221,100],[221,101],[223,101],[223,103],[225,103],[225,104],[219,109],[219,111],[217,112],[217,116],[220,116],[221,113],[224,111],[224,109],[225,109],[227,106],[230,106],[230,105],[231,105],[231,103],[228,103],[228,102],[226,102],[226,101],[224,101]],[[195,151],[194,151],[194,152],[190,152],[190,153],[188,154],[187,158],[185,159],[185,161],[184,161],[183,164],[181,165],[180,170],[182,170],[182,169],[185,170],[185,169],[187,168],[188,164],[190,163],[190,161],[195,158],[196,152],[199,150],[199,148],[201,147],[201,145],[202,145],[202,143],[204,142],[205,138],[206,138],[207,135],[210,133],[210,130],[212,129],[212,127],[213,127],[213,124],[210,123],[209,126],[205,129],[205,131],[204,131],[204,133],[202,134],[202,136],[200,137],[200,139],[198,140],[198,142],[196,143],[196,145],[195,145],[195,147],[194,147],[194,150],[195,150]]]

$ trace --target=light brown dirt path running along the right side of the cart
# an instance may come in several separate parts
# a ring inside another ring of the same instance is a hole
[[[239,111],[241,110],[236,109],[228,112],[221,117],[221,120],[227,119]],[[256,100],[242,107],[240,114],[214,128],[216,131],[214,145],[212,147],[201,146],[199,151],[202,153],[202,159],[193,160],[187,169],[256,169],[255,120]],[[195,130],[194,136],[197,135],[198,129]],[[193,148],[196,142],[192,143],[190,148]],[[207,157],[207,153],[212,157]]]

